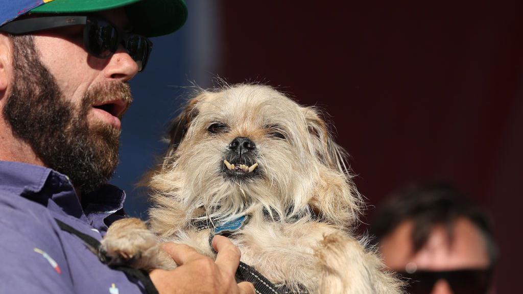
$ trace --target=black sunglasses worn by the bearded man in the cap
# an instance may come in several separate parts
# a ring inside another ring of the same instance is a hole
[[[146,37],[127,33],[113,26],[109,21],[94,16],[46,16],[26,18],[8,22],[0,31],[22,35],[41,30],[85,25],[84,48],[97,58],[109,58],[122,44],[131,58],[143,71],[153,49],[153,42]]]

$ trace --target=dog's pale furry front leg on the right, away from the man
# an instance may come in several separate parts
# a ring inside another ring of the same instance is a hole
[[[315,250],[319,293],[402,293],[401,284],[356,240],[341,232],[326,234]]]

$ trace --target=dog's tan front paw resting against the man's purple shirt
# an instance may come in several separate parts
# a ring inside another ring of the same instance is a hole
[[[162,250],[156,235],[137,218],[115,221],[101,241],[100,253],[109,265],[127,265],[151,270],[173,269],[176,263]]]

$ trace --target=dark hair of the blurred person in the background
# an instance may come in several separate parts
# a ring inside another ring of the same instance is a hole
[[[444,225],[452,238],[454,221],[467,218],[484,236],[491,265],[497,259],[497,246],[492,235],[492,222],[488,214],[464,197],[457,189],[444,183],[407,188],[385,200],[376,212],[370,233],[379,242],[397,225],[412,220],[414,252],[428,240],[435,225]]]

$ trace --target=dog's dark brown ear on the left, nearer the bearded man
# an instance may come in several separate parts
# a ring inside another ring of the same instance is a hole
[[[201,99],[201,95],[192,98],[188,101],[181,114],[179,114],[170,124],[169,128],[169,149],[168,154],[172,154],[178,149],[181,141],[184,140],[185,134],[189,129],[190,123],[198,115],[198,108],[196,105]]]

